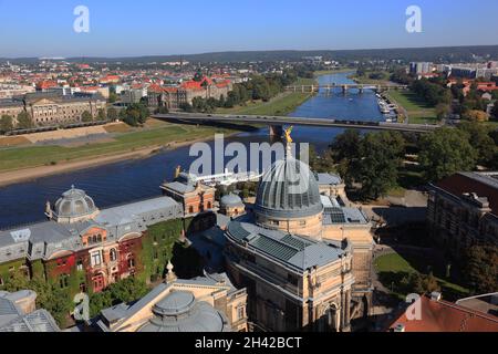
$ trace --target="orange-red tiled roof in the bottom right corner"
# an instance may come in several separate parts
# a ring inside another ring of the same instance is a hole
[[[414,313],[417,305],[422,317],[409,321],[407,313]],[[391,327],[397,325],[405,332],[498,332],[498,317],[423,295]]]

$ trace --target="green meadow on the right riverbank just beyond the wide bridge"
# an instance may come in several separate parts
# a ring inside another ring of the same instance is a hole
[[[398,106],[406,110],[411,124],[437,124],[437,115],[434,106],[427,104],[415,93],[405,90],[392,90],[387,96]]]

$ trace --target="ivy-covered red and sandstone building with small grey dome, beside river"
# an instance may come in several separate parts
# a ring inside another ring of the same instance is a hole
[[[40,277],[71,294],[100,292],[127,277],[160,277],[165,249],[185,229],[168,197],[100,210],[71,188],[46,205],[48,221],[0,231],[0,289],[14,273]]]

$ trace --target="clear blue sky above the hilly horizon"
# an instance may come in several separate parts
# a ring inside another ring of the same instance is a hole
[[[73,10],[90,9],[90,33]],[[422,8],[423,33],[405,31]],[[498,44],[497,0],[0,0],[0,56]]]

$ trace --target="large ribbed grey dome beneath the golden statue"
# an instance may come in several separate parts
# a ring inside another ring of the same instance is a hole
[[[323,211],[320,189],[310,167],[291,155],[263,175],[255,211],[274,218],[303,218]]]

